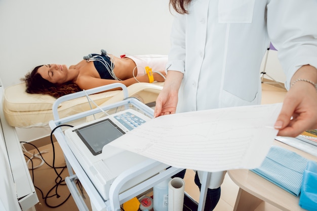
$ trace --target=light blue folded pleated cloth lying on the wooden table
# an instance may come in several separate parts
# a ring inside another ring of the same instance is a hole
[[[252,172],[298,196],[307,159],[280,146],[272,146],[261,166]]]

